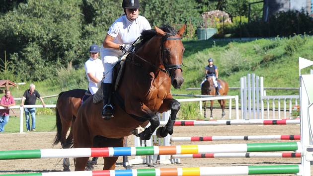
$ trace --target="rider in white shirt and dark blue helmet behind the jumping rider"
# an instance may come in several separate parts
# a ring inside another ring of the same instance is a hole
[[[98,45],[91,45],[89,48],[90,58],[85,62],[85,72],[88,79],[88,89],[91,94],[97,92],[99,83],[103,78],[103,66],[102,61],[98,59],[99,47]]]

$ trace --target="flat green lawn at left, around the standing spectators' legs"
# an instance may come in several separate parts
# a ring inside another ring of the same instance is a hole
[[[19,117],[10,116],[8,123],[4,126],[4,133],[18,133],[20,124],[19,120]],[[56,131],[55,125],[55,115],[36,115],[36,132]],[[26,132],[25,116],[23,117],[23,131]]]

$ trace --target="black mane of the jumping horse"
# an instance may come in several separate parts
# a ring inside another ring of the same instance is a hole
[[[176,34],[175,29],[169,25],[161,25],[159,28],[169,35],[174,36]],[[147,41],[149,41],[155,35],[157,35],[156,29],[144,30],[140,36],[141,41],[138,44],[136,44],[135,47],[137,49],[142,47]]]

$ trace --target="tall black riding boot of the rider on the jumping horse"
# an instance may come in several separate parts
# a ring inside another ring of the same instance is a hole
[[[113,106],[111,105],[112,84],[101,82],[103,95],[102,118],[110,120],[113,116]]]

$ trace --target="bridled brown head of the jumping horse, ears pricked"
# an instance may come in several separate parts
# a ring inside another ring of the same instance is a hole
[[[181,37],[186,29],[186,24],[183,25],[176,34],[166,33],[156,27],[157,35],[162,36],[161,42],[161,62],[165,70],[168,72],[171,84],[174,88],[180,88],[184,82],[182,76],[182,59],[185,48],[181,42]]]

